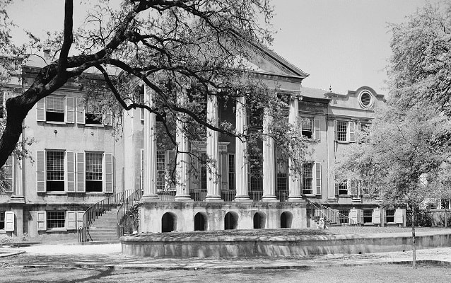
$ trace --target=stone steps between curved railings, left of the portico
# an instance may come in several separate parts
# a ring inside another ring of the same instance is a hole
[[[119,241],[117,237],[117,208],[105,211],[89,227],[89,236],[93,242]]]

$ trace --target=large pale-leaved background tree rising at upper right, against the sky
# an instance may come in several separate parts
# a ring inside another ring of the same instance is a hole
[[[392,57],[388,75],[392,103],[410,108],[437,103],[450,112],[451,3],[427,4],[392,25]]]

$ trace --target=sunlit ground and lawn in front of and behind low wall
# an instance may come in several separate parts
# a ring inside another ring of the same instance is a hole
[[[438,229],[418,229],[418,232]],[[443,230],[443,229],[440,229]],[[327,230],[281,229],[278,236],[409,232],[398,227],[331,227]],[[274,236],[274,230],[230,233]],[[448,282],[451,248],[418,250],[418,269],[411,252],[322,255],[281,258],[175,259],[122,255],[118,243],[78,245],[43,243],[0,248],[0,282]],[[262,280],[264,279],[264,280]]]

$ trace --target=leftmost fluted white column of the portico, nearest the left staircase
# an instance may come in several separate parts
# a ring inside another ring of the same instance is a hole
[[[144,103],[153,108],[153,91],[144,86]],[[157,195],[157,135],[156,114],[144,111],[144,199],[158,199]]]

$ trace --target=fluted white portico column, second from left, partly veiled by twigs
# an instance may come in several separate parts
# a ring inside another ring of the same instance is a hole
[[[180,106],[185,107],[187,96],[185,90],[178,93],[177,101]],[[175,141],[177,142],[177,184],[175,185],[175,200],[177,201],[191,201],[189,195],[190,174],[189,168],[191,166],[191,157],[189,156],[189,142],[185,129],[185,115],[177,115],[177,129],[175,133]]]

